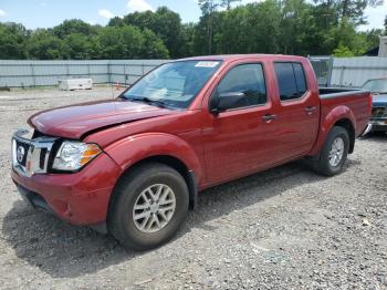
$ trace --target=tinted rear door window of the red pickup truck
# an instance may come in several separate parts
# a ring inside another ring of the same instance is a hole
[[[279,62],[274,63],[274,70],[281,101],[299,99],[307,91],[305,73],[301,63]]]

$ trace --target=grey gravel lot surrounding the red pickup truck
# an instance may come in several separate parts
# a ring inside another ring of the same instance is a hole
[[[0,92],[0,288],[387,289],[383,135],[358,141],[339,176],[297,162],[206,190],[178,236],[148,252],[31,209],[10,179],[12,132],[36,111],[106,97]]]

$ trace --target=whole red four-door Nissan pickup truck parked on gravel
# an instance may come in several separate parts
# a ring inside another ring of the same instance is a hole
[[[302,157],[338,174],[370,112],[369,92],[318,92],[301,56],[184,59],[117,100],[31,116],[12,138],[12,179],[34,207],[149,249],[205,188]]]

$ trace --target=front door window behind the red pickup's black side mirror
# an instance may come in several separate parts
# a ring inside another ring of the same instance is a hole
[[[244,95],[232,108],[265,104],[268,96],[262,65],[240,64],[232,68],[217,89],[218,97],[226,93]]]

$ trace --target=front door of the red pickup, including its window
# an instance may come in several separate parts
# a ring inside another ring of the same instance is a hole
[[[221,79],[212,97],[242,93],[233,107],[208,113],[205,158],[209,184],[266,167],[275,157],[273,105],[266,93],[261,63],[240,63]],[[207,114],[207,113],[206,113]]]

